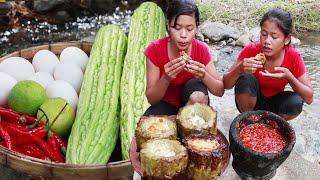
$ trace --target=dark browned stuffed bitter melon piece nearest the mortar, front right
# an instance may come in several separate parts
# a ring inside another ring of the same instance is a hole
[[[222,173],[224,152],[228,148],[211,134],[191,134],[184,139],[188,150],[188,179],[216,179]]]

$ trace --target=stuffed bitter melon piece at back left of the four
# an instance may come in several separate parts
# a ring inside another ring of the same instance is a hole
[[[177,126],[168,116],[142,117],[135,131],[138,149],[150,139],[177,139]]]

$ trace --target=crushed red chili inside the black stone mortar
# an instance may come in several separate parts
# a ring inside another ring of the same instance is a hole
[[[265,124],[251,124],[240,131],[242,143],[253,151],[262,153],[278,153],[286,141],[279,131]]]

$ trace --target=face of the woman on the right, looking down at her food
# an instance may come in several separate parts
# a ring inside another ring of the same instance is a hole
[[[285,34],[274,21],[266,20],[261,27],[260,42],[263,53],[266,56],[277,56],[286,44],[289,44],[291,36]]]

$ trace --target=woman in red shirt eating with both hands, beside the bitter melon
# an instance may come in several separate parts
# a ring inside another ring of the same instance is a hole
[[[224,93],[208,46],[195,39],[199,11],[193,0],[173,0],[167,9],[168,37],[146,48],[147,90],[151,107],[144,115],[175,115],[185,104],[209,104],[209,91]],[[186,53],[188,61],[181,59]]]

